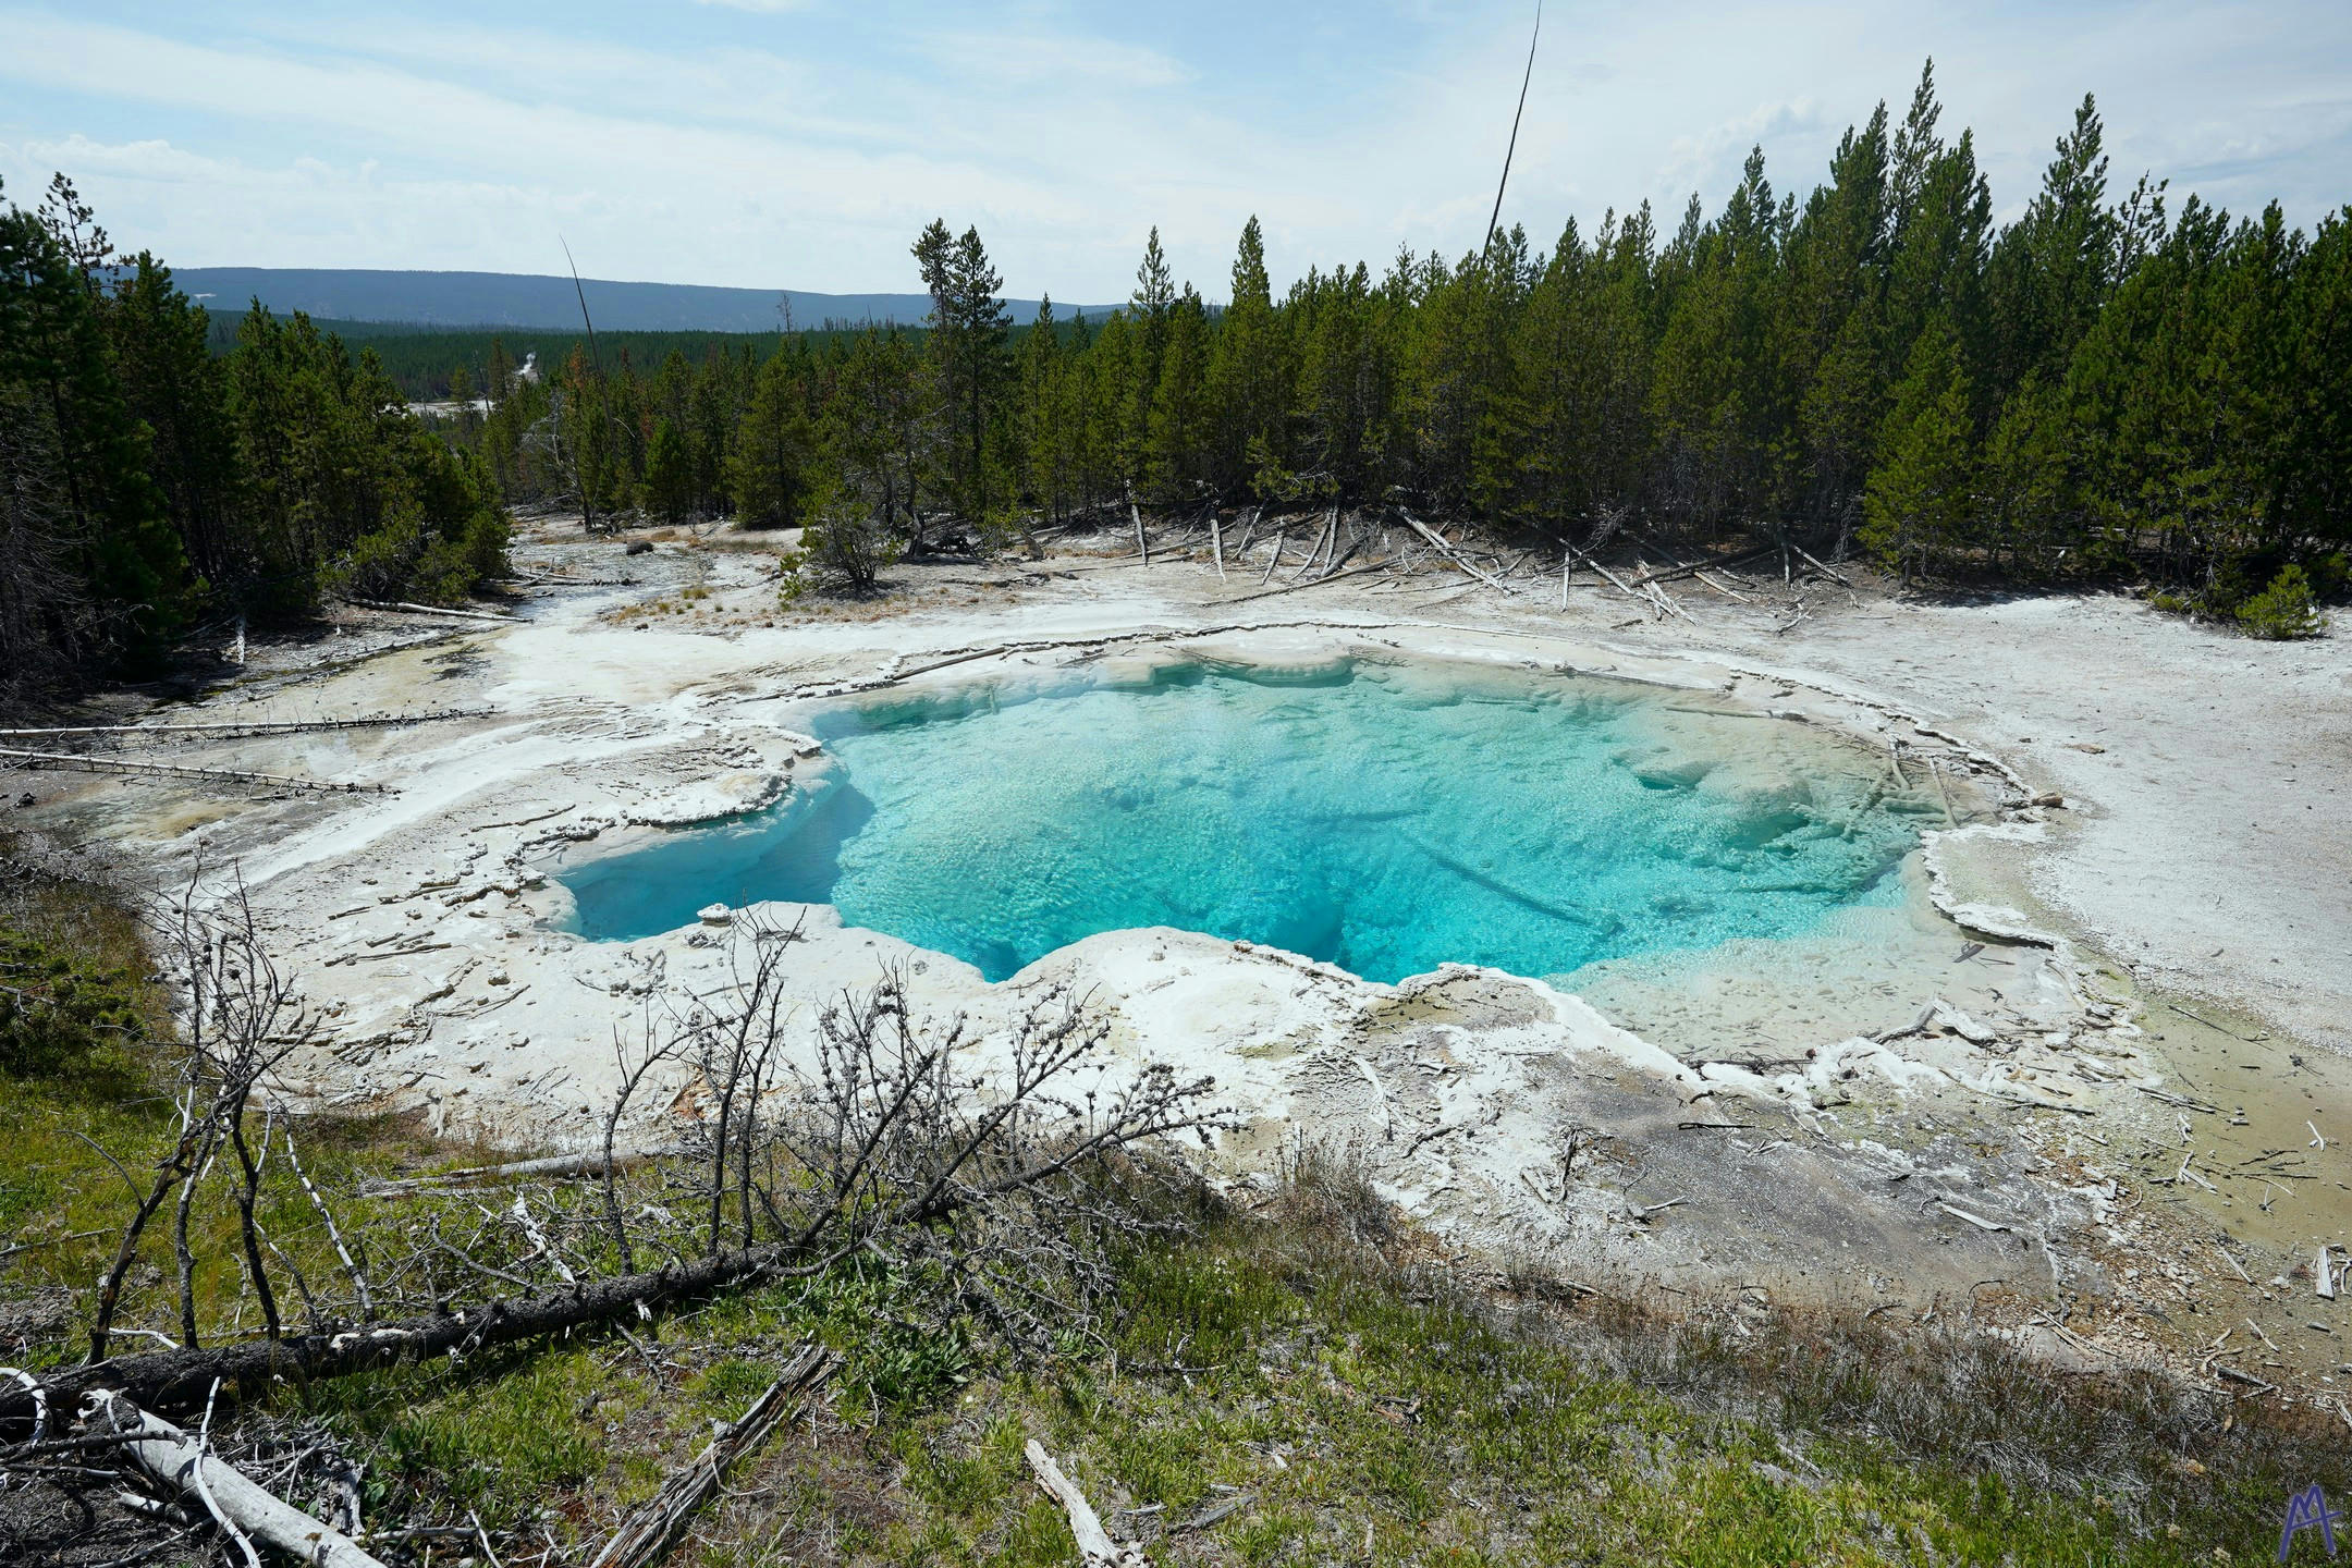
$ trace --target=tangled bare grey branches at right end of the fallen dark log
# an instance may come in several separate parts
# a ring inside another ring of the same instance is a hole
[[[755,1251],[764,1234],[795,1258],[929,1265],[1016,1347],[1091,1316],[1112,1286],[1105,1244],[1157,1225],[1134,1182],[1190,1171],[1155,1150],[1230,1121],[1207,1107],[1211,1079],[1162,1065],[1115,1077],[1108,1023],[1068,990],[983,1039],[962,1016],[917,1018],[898,973],[842,992],[793,1060],[783,983],[797,940],[797,924],[741,917],[729,985],[630,1065],[642,1074],[666,1056],[687,1060],[708,1100],[703,1255]],[[633,1255],[609,1197],[604,1213]]]

